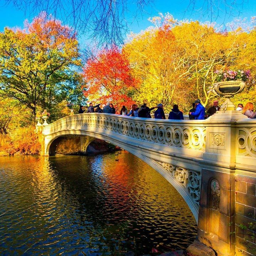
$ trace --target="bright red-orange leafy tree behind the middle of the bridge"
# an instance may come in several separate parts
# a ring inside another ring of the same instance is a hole
[[[84,95],[89,101],[109,101],[118,109],[134,103],[129,95],[137,90],[138,81],[131,74],[127,55],[117,47],[90,58],[84,68],[84,77],[87,83],[83,87]]]

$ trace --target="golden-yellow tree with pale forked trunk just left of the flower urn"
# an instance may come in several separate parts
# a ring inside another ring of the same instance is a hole
[[[216,82],[214,71],[236,65],[243,43],[235,33],[217,32],[213,25],[198,21],[175,26],[172,31],[190,55],[190,80],[196,97],[206,106],[211,98],[216,97],[210,90]]]

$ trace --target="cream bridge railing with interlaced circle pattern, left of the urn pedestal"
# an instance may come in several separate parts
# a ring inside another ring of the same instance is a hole
[[[205,151],[205,124],[198,121],[171,122],[170,120],[89,113],[59,119],[44,126],[43,134],[49,135],[76,127],[98,128],[150,143]]]

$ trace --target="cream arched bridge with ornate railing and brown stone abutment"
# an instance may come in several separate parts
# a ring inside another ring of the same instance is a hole
[[[201,121],[77,114],[42,126],[42,155],[70,135],[81,137],[82,151],[102,139],[158,171],[190,207],[199,241],[217,255],[256,255],[247,224],[256,223],[256,120],[235,110]]]

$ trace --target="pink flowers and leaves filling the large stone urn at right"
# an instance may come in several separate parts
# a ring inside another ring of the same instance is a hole
[[[224,82],[224,81],[232,81],[232,80],[242,80],[246,82],[251,79],[250,70],[215,70],[215,74],[217,74],[215,81],[216,82]]]

